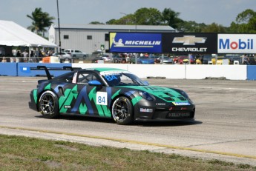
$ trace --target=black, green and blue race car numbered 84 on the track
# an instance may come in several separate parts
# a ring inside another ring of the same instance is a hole
[[[113,118],[116,124],[194,120],[195,105],[183,90],[151,86],[128,70],[70,67],[54,78],[50,68],[31,70],[45,70],[48,78],[38,81],[28,103],[44,118],[83,115]]]

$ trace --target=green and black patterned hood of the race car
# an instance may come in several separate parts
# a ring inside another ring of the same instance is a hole
[[[181,95],[177,90],[171,89],[168,87],[160,86],[122,86],[127,87],[133,90],[141,90],[151,95],[154,95],[157,98],[163,99],[166,102],[188,102],[188,99]]]

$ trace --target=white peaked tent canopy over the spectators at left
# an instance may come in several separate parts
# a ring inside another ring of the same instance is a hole
[[[57,47],[13,21],[0,20],[0,45],[14,47]]]

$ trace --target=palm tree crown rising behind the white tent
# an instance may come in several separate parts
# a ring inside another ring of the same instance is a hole
[[[42,33],[42,36],[45,37],[45,27],[50,27],[53,24],[54,17],[50,16],[49,13],[42,12],[42,8],[36,8],[31,16],[27,15],[28,18],[32,20],[32,25],[27,27],[27,29],[33,31],[36,34]]]

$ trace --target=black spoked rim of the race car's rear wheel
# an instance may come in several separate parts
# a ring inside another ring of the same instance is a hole
[[[40,105],[43,113],[53,113],[55,108],[53,95],[44,95],[41,99]]]

